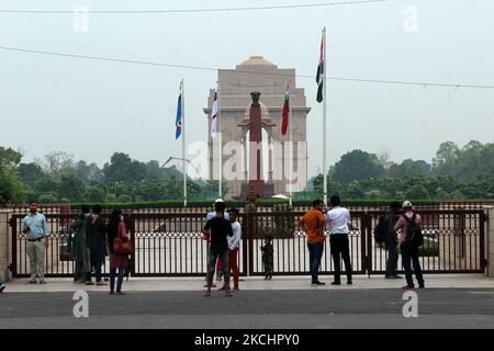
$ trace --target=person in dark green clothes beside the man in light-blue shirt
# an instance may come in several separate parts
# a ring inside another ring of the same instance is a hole
[[[83,205],[80,208],[80,214],[70,225],[70,229],[74,231],[72,240],[72,260],[76,262],[76,268],[74,272],[75,283],[86,283],[86,278],[88,273],[90,274],[90,259],[89,250],[86,248],[86,228],[87,220],[89,216],[89,206]]]

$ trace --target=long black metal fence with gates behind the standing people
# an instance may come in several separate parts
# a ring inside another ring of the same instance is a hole
[[[382,212],[351,213],[350,254],[356,274],[383,274],[388,252],[378,245],[372,229]],[[47,214],[50,245],[46,254],[47,276],[71,276],[74,262],[65,254],[69,224],[75,213]],[[270,235],[274,248],[274,274],[307,275],[306,236],[299,226],[302,212],[242,213],[239,250],[242,275],[261,275],[260,247]],[[480,273],[485,269],[484,220],[480,210],[422,211],[425,244],[420,262],[426,273]],[[29,276],[30,267],[22,234],[23,215],[12,216],[12,264],[14,278]],[[206,273],[206,242],[202,239],[203,213],[128,213],[127,226],[135,246],[133,276],[202,276]],[[327,233],[328,234],[328,233]],[[401,263],[398,263],[401,267]],[[109,264],[104,272],[108,273]],[[333,273],[329,236],[325,241],[322,274]]]

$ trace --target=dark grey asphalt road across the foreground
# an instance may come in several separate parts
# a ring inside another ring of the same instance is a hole
[[[416,291],[418,318],[403,316],[400,290],[89,293],[75,318],[72,293],[0,295],[0,328],[494,328],[493,288]]]

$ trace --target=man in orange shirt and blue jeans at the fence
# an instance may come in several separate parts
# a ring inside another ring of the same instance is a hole
[[[321,259],[324,251],[324,225],[326,220],[323,215],[323,202],[316,200],[312,204],[312,211],[300,219],[299,225],[305,229],[307,234],[308,248],[308,267],[311,270],[312,285],[326,285],[319,282],[318,273],[321,267]]]

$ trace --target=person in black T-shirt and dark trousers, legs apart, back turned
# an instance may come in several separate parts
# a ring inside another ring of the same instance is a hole
[[[233,236],[232,224],[225,219],[225,204],[217,202],[214,204],[216,217],[207,220],[204,231],[211,233],[210,242],[210,265],[207,271],[207,291],[205,296],[211,296],[211,286],[213,285],[214,268],[220,257],[223,261],[223,276],[225,280],[225,296],[233,296],[229,292],[229,272],[228,272],[228,240]]]

